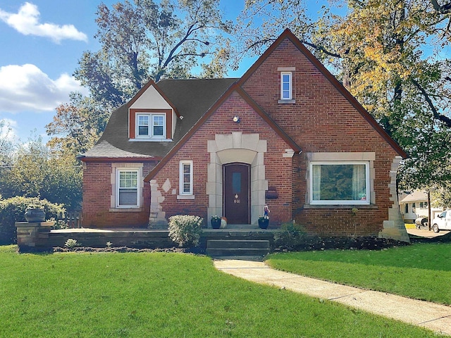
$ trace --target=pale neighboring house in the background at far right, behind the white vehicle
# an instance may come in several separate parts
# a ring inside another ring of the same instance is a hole
[[[428,217],[428,194],[415,190],[411,194],[400,195],[400,211],[405,223],[414,223],[416,218]],[[442,211],[443,208],[431,208],[432,218]]]

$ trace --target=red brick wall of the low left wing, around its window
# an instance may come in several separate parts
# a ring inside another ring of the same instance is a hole
[[[145,177],[155,163],[144,163]],[[149,223],[150,187],[144,184],[141,211],[110,211],[111,163],[85,163],[83,170],[83,227],[146,227]]]

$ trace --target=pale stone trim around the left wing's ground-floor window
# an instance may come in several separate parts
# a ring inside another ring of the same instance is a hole
[[[111,163],[111,196],[110,196],[110,212],[139,212],[143,210],[143,189],[144,189],[144,177],[142,177],[143,163]],[[137,206],[118,206],[118,172],[120,171],[133,171],[138,173],[138,192]]]

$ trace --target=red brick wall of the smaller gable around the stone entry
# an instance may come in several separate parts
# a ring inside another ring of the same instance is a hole
[[[234,115],[239,115],[241,122],[233,123]],[[269,186],[276,186],[278,199],[268,200],[271,210],[271,224],[292,219],[292,158],[283,158],[285,144],[276,132],[249,106],[239,94],[233,94],[206,120],[197,132],[182,146],[166,165],[159,170],[154,179],[161,186],[169,179],[171,189],[161,194],[165,200],[161,204],[166,218],[176,214],[207,216],[209,196],[206,194],[206,182],[210,154],[207,152],[207,140],[214,140],[215,134],[259,134],[260,139],[267,141],[267,152],[264,154],[266,168],[266,180]],[[178,200],[179,161],[192,160],[194,167],[194,200]],[[252,180],[252,178],[251,178]],[[177,194],[172,194],[172,189],[177,189]],[[261,210],[263,214],[263,210]]]

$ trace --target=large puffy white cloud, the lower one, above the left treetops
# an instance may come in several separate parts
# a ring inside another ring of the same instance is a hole
[[[20,111],[54,111],[69,100],[70,92],[87,95],[87,89],[68,74],[51,78],[36,65],[0,67],[0,109],[9,113]]]

